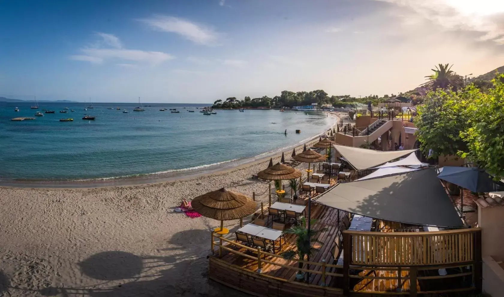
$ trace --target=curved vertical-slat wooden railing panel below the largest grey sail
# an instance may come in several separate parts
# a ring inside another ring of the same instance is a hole
[[[350,232],[351,265],[409,266],[475,260],[479,228],[442,232]]]

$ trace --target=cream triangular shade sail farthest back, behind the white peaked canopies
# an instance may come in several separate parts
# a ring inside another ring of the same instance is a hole
[[[406,150],[406,151],[375,151],[368,150],[367,148],[345,146],[340,144],[333,145],[336,151],[344,157],[350,165],[356,170],[365,170],[373,168],[378,165],[382,165],[389,161],[399,159],[406,155],[409,155],[417,150]]]

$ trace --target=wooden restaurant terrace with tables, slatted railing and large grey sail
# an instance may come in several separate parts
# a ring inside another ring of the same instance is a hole
[[[385,159],[357,167],[393,160]],[[298,199],[304,202],[292,205],[305,207],[293,216],[273,203],[251,228],[229,238],[212,234],[209,277],[255,296],[481,291],[481,231],[466,228],[435,169],[338,183]],[[295,234],[269,231],[302,225],[296,214],[316,219],[310,228],[320,230],[311,238],[316,251],[303,261],[283,256],[297,250]]]

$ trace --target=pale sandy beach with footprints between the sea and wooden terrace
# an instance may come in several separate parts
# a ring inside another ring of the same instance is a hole
[[[268,161],[137,186],[0,187],[0,296],[239,296],[207,278],[219,222],[174,208],[221,187],[264,193],[268,183],[251,176]],[[234,232],[239,222],[224,224]]]

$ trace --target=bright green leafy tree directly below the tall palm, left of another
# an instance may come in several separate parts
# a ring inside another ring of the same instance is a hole
[[[418,128],[417,139],[425,155],[432,150],[431,157],[456,155],[467,151],[467,143],[460,136],[469,126],[464,113],[469,93],[457,94],[451,90],[436,90],[429,93],[418,106],[418,115],[413,122]]]

